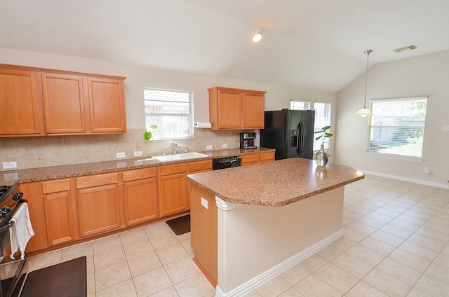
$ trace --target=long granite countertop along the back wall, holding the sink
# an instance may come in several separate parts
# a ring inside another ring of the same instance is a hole
[[[91,174],[119,172],[123,170],[133,170],[145,167],[194,162],[199,160],[208,160],[211,158],[251,155],[254,153],[265,153],[270,151],[275,150],[273,148],[251,148],[251,149],[229,148],[216,151],[201,151],[200,153],[204,153],[207,155],[207,157],[204,158],[175,160],[170,162],[145,160],[151,157],[140,157],[133,159],[105,161],[105,162],[31,168],[25,170],[5,170],[0,173],[0,185],[22,184],[22,183],[29,183],[32,181],[46,181],[50,179],[62,179],[67,177],[81,177],[84,175],[91,175]]]

